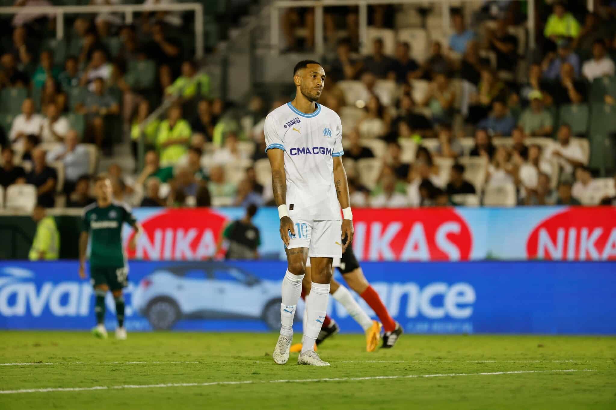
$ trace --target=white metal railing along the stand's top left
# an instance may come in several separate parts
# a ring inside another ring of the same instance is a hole
[[[205,39],[203,37],[203,4],[168,3],[168,4],[124,4],[110,6],[28,6],[0,7],[0,14],[47,14],[55,15],[55,37],[64,37],[65,14],[122,13],[125,22],[131,24],[133,14],[152,11],[193,11],[195,12],[195,58],[203,58]]]

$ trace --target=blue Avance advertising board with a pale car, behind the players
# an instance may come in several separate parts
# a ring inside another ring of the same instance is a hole
[[[362,267],[407,333],[616,334],[614,262],[365,262]],[[126,327],[278,329],[285,270],[280,261],[131,262]],[[107,308],[106,325],[113,329],[110,294]],[[302,311],[298,306],[298,315]],[[331,298],[328,313],[342,331],[361,331]],[[92,325],[94,295],[89,281],[79,280],[77,262],[0,262],[1,329]]]

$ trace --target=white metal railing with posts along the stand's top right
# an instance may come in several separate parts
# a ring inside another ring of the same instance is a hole
[[[457,0],[474,1],[474,0]],[[507,1],[507,0],[496,0]],[[593,0],[588,0],[589,4]],[[328,6],[358,6],[359,7],[359,44],[362,54],[368,53],[368,6],[389,4],[440,4],[442,7],[443,33],[450,33],[450,1],[448,0],[281,0],[272,3],[270,12],[270,40],[272,53],[280,52],[280,9],[296,7],[310,7],[314,9],[314,41],[315,52],[323,54],[325,42],[323,41],[323,7]],[[528,22],[530,48],[535,47],[535,0],[528,0]]]

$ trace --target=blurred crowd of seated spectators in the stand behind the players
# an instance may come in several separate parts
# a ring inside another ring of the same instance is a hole
[[[440,16],[431,32],[421,8],[374,6],[367,55],[357,10],[326,8],[319,102],[342,120],[352,205],[616,205],[616,4],[603,3],[542,3],[535,49],[521,2],[453,9],[442,38]],[[215,98],[181,15],[78,17],[63,42],[33,41],[45,17],[18,17],[0,58],[5,207],[83,207],[97,171],[134,206],[274,204],[263,124],[291,97]],[[397,28],[415,18],[423,27]],[[314,47],[310,9],[286,10],[281,26],[285,52]],[[141,136],[144,168],[98,169],[124,137],[136,158]]]

